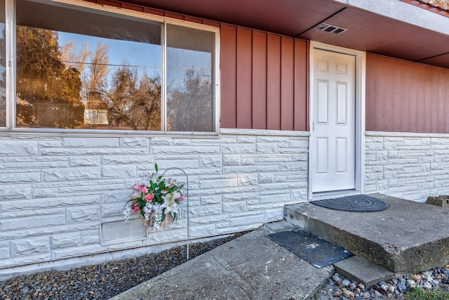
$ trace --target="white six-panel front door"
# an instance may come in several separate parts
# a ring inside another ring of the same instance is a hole
[[[354,190],[356,57],[314,49],[313,71],[312,192]]]

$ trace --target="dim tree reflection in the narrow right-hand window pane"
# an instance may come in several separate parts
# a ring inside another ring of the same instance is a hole
[[[184,85],[171,91],[167,101],[169,131],[213,131],[213,90],[210,80],[187,70]]]

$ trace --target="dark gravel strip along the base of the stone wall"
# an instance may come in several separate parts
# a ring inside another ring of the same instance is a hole
[[[189,258],[193,259],[243,234],[192,243]],[[109,299],[184,263],[186,254],[184,245],[134,259],[21,275],[0,282],[0,299]]]

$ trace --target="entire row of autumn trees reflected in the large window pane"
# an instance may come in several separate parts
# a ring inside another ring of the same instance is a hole
[[[159,74],[111,70],[101,40],[93,53],[87,43],[76,53],[73,44],[60,48],[58,32],[18,26],[17,58],[18,126],[161,128]]]

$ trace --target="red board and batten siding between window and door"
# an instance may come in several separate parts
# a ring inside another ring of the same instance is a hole
[[[221,25],[221,127],[307,130],[307,41]]]

